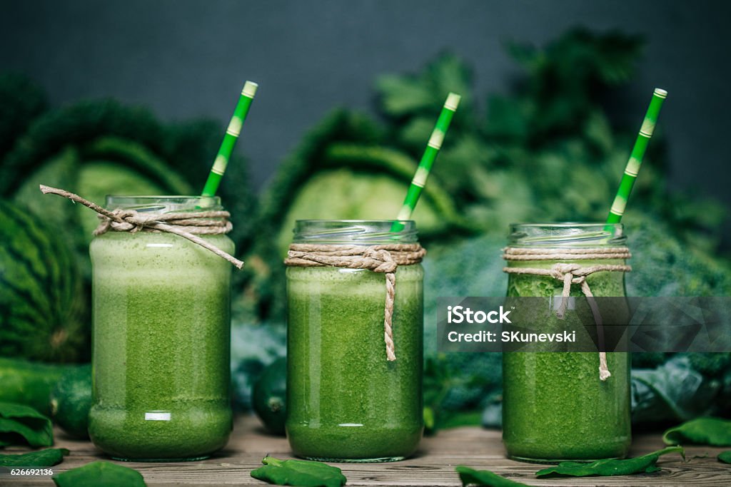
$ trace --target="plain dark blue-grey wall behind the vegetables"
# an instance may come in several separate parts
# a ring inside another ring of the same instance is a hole
[[[474,66],[477,93],[505,93],[518,72],[504,52],[509,40],[541,45],[575,25],[644,34],[637,76],[610,100],[614,119],[639,128],[652,88],[667,89],[660,127],[669,142],[670,184],[731,204],[731,2],[0,0],[0,6],[0,69],[28,74],[56,106],[113,96],[147,105],[163,120],[208,117],[223,124],[243,80],[260,83],[237,148],[251,160],[256,188],[325,112],[373,110],[379,74],[413,72],[451,50]]]

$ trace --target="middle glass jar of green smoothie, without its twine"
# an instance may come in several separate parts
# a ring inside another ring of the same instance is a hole
[[[297,221],[295,243],[413,244],[413,221]],[[295,455],[396,461],[423,433],[423,268],[395,272],[395,361],[384,342],[385,275],[287,267],[287,437]]]

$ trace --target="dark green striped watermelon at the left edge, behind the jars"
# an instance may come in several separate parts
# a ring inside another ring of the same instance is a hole
[[[74,361],[88,346],[83,282],[53,218],[0,200],[0,356]]]

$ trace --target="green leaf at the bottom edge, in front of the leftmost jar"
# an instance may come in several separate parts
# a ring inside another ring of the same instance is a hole
[[[146,487],[140,472],[109,461],[92,461],[83,467],[53,475],[57,487]]]

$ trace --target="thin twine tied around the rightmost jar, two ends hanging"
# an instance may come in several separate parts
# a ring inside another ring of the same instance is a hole
[[[605,259],[621,259],[625,260],[632,257],[629,250],[625,247],[611,248],[517,248],[507,247],[503,249],[503,258],[506,261],[575,261],[575,260],[605,260]],[[630,272],[632,266],[624,264],[594,264],[591,266],[583,266],[578,263],[558,262],[550,266],[548,269],[539,267],[503,267],[503,272],[508,274],[526,274],[541,275],[553,277],[564,283],[561,293],[561,304],[556,310],[556,318],[564,319],[566,309],[569,304],[569,295],[571,294],[571,285],[578,284],[581,286],[581,292],[586,296],[586,301],[591,308],[591,314],[594,316],[596,326],[602,326],[602,314],[596,305],[594,294],[591,292],[586,277],[594,274],[594,272]],[[607,367],[607,353],[599,352],[599,379],[607,380],[611,377],[609,368]]]

